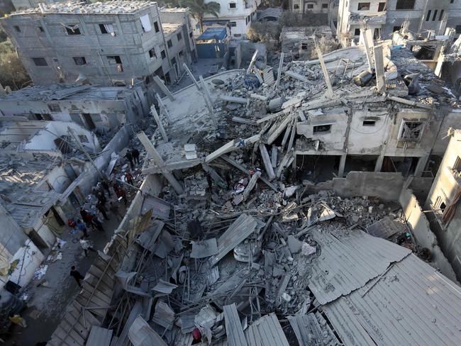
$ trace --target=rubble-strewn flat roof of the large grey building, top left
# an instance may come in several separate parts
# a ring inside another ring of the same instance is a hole
[[[104,1],[87,4],[84,1],[56,2],[39,4],[35,9],[26,9],[11,13],[11,16],[22,13],[69,13],[69,14],[134,14],[148,7],[156,6],[151,1]]]

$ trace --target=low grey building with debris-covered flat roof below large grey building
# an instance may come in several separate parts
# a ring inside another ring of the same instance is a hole
[[[138,123],[149,112],[148,91],[134,86],[28,86],[0,96],[0,121],[11,117],[67,121],[107,133],[125,123]]]

